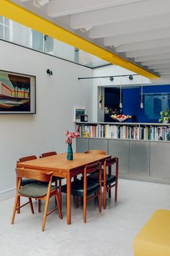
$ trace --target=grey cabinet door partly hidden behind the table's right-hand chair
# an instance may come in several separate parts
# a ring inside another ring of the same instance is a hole
[[[129,141],[109,140],[109,152],[119,158],[119,172],[129,174]]]

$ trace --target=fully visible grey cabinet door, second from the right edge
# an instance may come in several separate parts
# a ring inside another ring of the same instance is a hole
[[[130,174],[149,175],[149,142],[130,141]]]

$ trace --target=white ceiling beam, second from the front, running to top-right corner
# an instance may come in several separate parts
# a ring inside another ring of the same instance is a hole
[[[146,18],[150,16],[156,16],[156,14],[166,14],[169,12],[169,0],[161,0],[161,4],[160,0],[148,0],[147,2],[148,8],[146,7],[146,1],[134,1],[134,3],[126,4],[124,6],[110,7],[102,10],[98,9],[91,12],[73,14],[71,15],[70,25],[71,28],[77,30],[83,27],[94,27],[109,23],[113,24],[115,22],[134,20],[139,19],[140,17]]]

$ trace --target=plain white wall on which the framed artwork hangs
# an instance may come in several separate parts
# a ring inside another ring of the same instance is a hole
[[[18,158],[39,156],[50,150],[66,151],[66,129],[75,129],[74,106],[85,106],[91,121],[92,81],[79,81],[78,77],[91,77],[92,69],[3,41],[0,41],[0,56],[0,69],[37,78],[37,114],[0,115],[0,200],[3,200],[12,195]],[[47,69],[53,71],[53,76],[48,76]]]

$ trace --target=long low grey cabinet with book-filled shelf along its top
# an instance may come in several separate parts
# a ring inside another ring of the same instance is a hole
[[[113,126],[120,127],[122,133],[115,137],[108,130],[104,133],[107,125],[111,131]],[[130,127],[134,136],[129,138]],[[79,122],[76,152],[104,150],[119,158],[120,178],[170,184],[169,129],[170,124]]]

